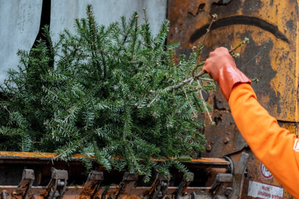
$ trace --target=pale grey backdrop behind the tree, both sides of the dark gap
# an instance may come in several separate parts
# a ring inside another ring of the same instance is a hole
[[[134,11],[143,18],[142,8],[153,33],[157,33],[166,18],[167,0],[51,0],[50,29],[53,41],[58,33],[74,31],[74,19],[86,17],[86,5],[91,4],[99,24],[108,25],[125,15],[130,18]],[[42,0],[0,0],[0,83],[9,68],[17,68],[18,49],[29,51],[39,31]]]

